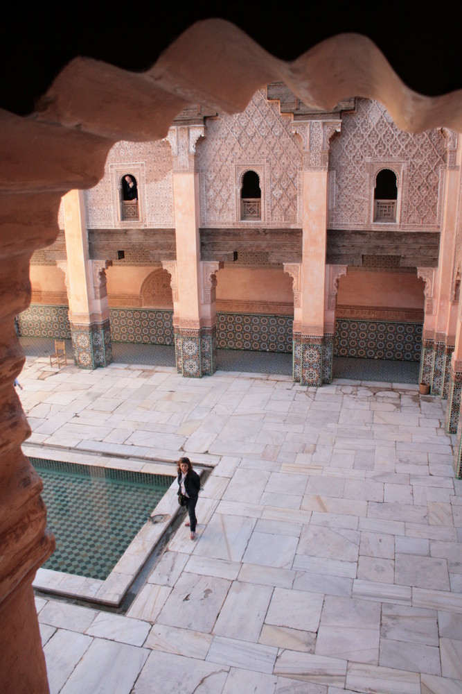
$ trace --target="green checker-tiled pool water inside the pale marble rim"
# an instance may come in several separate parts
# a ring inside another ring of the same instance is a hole
[[[104,581],[175,477],[30,457],[56,550],[44,568]]]

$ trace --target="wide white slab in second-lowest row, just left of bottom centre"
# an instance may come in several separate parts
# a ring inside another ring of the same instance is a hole
[[[215,636],[206,661],[272,675],[277,652],[278,649],[273,646]],[[274,674],[277,674],[276,671]]]

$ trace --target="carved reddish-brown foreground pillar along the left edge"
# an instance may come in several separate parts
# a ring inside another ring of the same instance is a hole
[[[14,146],[17,136],[8,138]],[[24,171],[33,171],[22,155],[31,144],[21,142],[24,149],[15,151],[11,166],[23,162]],[[5,166],[10,171],[10,162]],[[0,211],[0,690],[5,694],[48,693],[32,582],[55,543],[46,530],[42,480],[21,451],[30,428],[13,382],[24,364],[15,316],[30,303],[30,256],[55,240],[59,203],[59,192],[16,189],[2,196]]]

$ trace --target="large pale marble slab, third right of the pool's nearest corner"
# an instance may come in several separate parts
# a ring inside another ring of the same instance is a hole
[[[233,582],[213,633],[257,643],[272,594],[270,586]]]

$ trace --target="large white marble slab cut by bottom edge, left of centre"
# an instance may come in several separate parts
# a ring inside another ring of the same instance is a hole
[[[220,694],[229,666],[152,650],[131,694]]]

